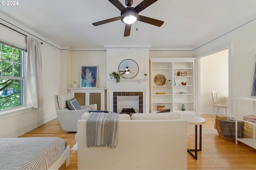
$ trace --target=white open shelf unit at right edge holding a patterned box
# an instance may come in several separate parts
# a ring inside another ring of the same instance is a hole
[[[256,123],[252,123],[250,121],[245,121],[243,117],[238,113],[238,101],[239,100],[246,100],[248,102],[253,102],[253,107],[252,107],[252,113],[251,115],[255,115],[255,104],[256,104],[256,98],[236,98],[236,145],[238,144],[237,141],[240,141],[254,149],[256,149],[256,139],[255,139],[255,127]],[[243,115],[245,116],[245,115]],[[252,138],[238,138],[237,137],[237,121],[244,121],[246,123],[249,123],[252,125]]]

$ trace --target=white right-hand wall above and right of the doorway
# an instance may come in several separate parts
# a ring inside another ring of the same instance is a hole
[[[244,25],[194,51],[196,57],[219,49],[232,42],[232,116],[235,115],[235,99],[250,97],[256,54],[256,21]],[[229,94],[230,96],[230,94]]]

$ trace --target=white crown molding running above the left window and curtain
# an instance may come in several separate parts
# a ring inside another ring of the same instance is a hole
[[[10,27],[11,29],[14,29],[15,31],[18,31],[26,36],[31,36],[35,39],[37,39],[38,41],[44,41],[45,43],[47,43],[50,47],[54,47],[58,50],[61,49],[60,45],[54,43],[53,41],[50,41],[49,39],[43,37],[42,35],[36,33],[35,31],[33,31],[32,29],[29,29],[28,27],[22,25],[21,23],[19,23],[16,20],[13,20],[12,18],[2,14],[0,12],[0,23],[2,23],[3,25],[6,25],[7,27]]]

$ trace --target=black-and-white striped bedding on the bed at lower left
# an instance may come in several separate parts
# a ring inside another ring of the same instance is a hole
[[[48,169],[66,147],[56,137],[0,138],[0,169]]]

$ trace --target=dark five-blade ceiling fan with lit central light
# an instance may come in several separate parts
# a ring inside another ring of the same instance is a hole
[[[151,25],[156,25],[158,27],[160,27],[164,23],[164,21],[160,21],[160,20],[156,20],[154,18],[149,18],[146,16],[138,15],[139,12],[141,12],[142,10],[144,10],[145,8],[152,5],[154,2],[156,2],[158,0],[143,0],[136,7],[131,7],[133,4],[133,0],[125,0],[125,4],[127,7],[124,7],[123,4],[119,0],[108,0],[108,1],[111,2],[116,8],[118,8],[118,10],[121,11],[121,16],[94,22],[94,23],[92,23],[92,25],[98,26],[98,25],[102,25],[104,23],[121,20],[123,23],[125,23],[124,37],[128,37],[130,35],[130,31],[131,31],[131,26],[132,26],[131,24],[136,21],[149,23]]]

